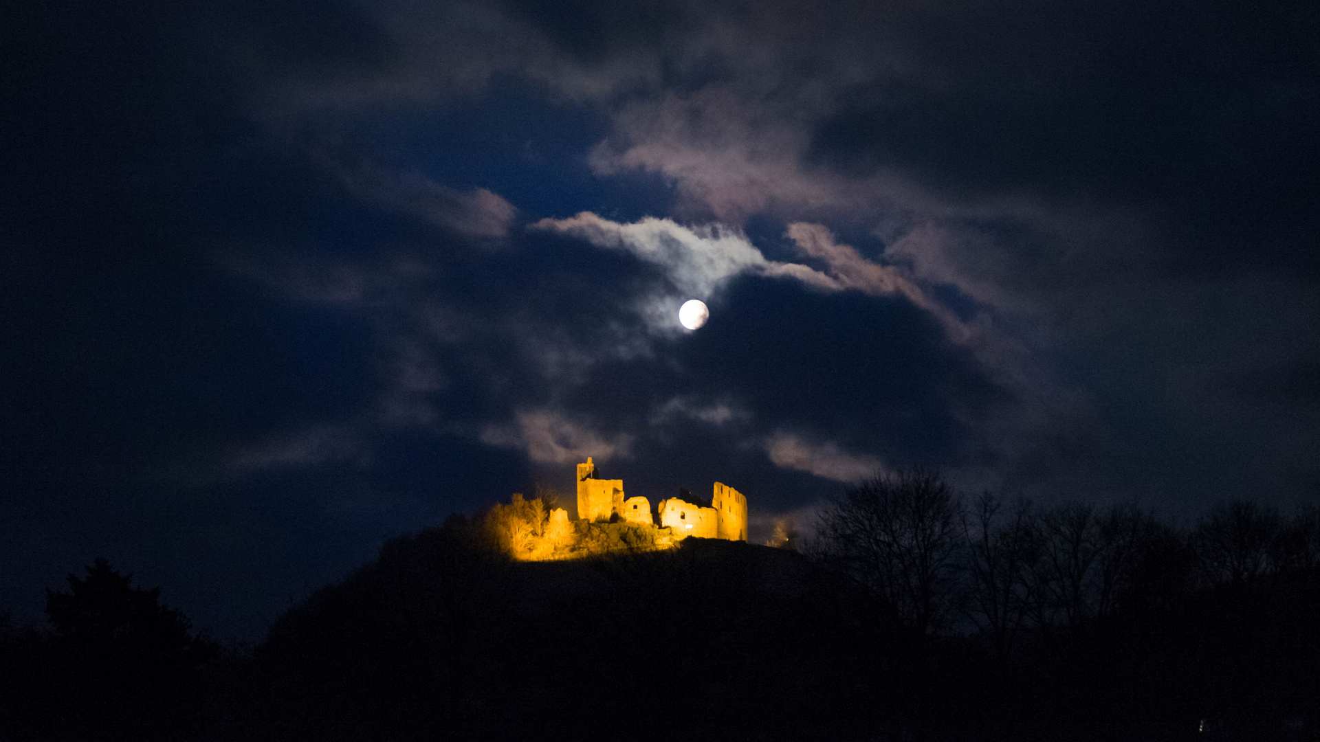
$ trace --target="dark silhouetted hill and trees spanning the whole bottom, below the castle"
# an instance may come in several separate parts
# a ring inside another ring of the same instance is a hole
[[[0,739],[1320,734],[1315,506],[1179,528],[907,470],[840,491],[809,537],[777,524],[776,549],[513,560],[550,507],[391,539],[248,650],[96,560],[45,628],[0,617]]]

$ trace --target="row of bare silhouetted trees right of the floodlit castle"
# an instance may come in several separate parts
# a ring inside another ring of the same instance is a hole
[[[850,576],[923,635],[973,632],[998,656],[1077,631],[1121,603],[1320,568],[1320,507],[1216,504],[1179,531],[1133,503],[966,498],[936,470],[875,475],[829,498],[812,558]]]

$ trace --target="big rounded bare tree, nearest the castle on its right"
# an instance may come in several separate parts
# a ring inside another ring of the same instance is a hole
[[[958,572],[961,503],[933,470],[873,477],[826,500],[817,553],[921,634],[942,628]]]

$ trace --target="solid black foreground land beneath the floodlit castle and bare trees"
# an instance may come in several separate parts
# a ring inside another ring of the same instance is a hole
[[[517,564],[475,531],[391,541],[252,652],[191,639],[154,593],[158,624],[128,638],[77,599],[59,631],[7,627],[4,738],[1317,738],[1313,570],[1138,581],[1105,621],[999,656],[906,631],[791,551]]]

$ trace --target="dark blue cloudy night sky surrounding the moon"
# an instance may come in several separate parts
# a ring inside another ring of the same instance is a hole
[[[1320,5],[825,5],[7,11],[0,611],[259,639],[587,455],[1320,499]]]

